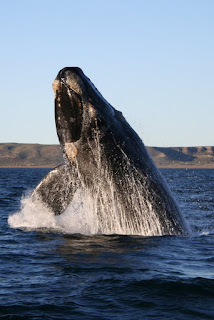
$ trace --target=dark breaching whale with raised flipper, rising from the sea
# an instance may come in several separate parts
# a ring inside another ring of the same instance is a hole
[[[98,232],[188,235],[165,180],[137,133],[80,68],[53,82],[55,121],[64,164],[50,171],[31,198],[56,215],[77,192],[90,197]]]

